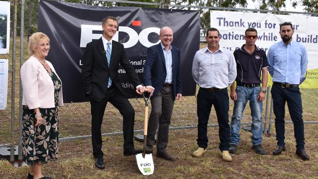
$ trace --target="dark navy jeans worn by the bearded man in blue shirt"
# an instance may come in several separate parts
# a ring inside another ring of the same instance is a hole
[[[277,145],[285,146],[285,103],[294,123],[296,149],[304,149],[304,122],[302,120],[301,96],[298,87],[282,88],[273,85],[272,87],[273,110],[275,114],[275,130]]]

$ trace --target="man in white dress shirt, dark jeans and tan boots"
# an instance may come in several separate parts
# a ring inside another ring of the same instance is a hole
[[[197,95],[198,113],[198,146],[192,156],[201,157],[206,150],[207,122],[214,106],[218,123],[221,157],[224,161],[232,161],[228,153],[229,124],[228,108],[229,98],[227,87],[236,78],[236,62],[233,53],[220,47],[220,33],[216,28],[209,28],[206,32],[207,47],[197,51],[192,64],[192,76],[200,86]]]

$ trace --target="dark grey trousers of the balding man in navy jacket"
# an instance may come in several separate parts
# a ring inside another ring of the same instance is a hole
[[[169,138],[169,125],[174,106],[173,87],[162,87],[159,93],[151,99],[151,112],[148,123],[147,145],[155,144],[155,134],[158,127],[157,152],[165,152]]]

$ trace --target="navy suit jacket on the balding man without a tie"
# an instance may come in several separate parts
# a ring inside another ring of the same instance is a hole
[[[172,46],[172,45],[171,45]],[[177,93],[182,94],[182,78],[181,78],[181,60],[180,49],[172,46],[172,83],[174,98]],[[160,43],[148,48],[146,62],[143,69],[144,86],[152,86],[155,88],[153,97],[155,97],[164,85],[167,76],[165,58]]]

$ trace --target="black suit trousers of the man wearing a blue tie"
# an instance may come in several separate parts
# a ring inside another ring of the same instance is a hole
[[[101,125],[108,102],[110,102],[123,116],[124,150],[133,150],[135,110],[128,99],[117,89],[115,85],[112,85],[109,89],[107,89],[106,94],[101,101],[90,99],[90,102],[93,156],[95,158],[103,157]]]

